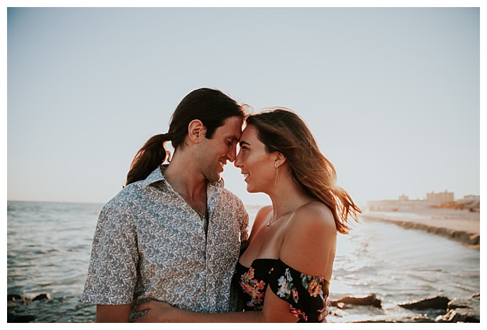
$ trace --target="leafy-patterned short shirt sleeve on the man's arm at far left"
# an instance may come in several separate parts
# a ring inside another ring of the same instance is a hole
[[[124,205],[104,206],[93,237],[81,302],[103,305],[131,303],[137,281],[137,232]]]

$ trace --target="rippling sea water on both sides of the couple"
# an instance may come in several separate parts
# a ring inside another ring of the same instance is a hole
[[[11,315],[39,323],[94,322],[95,306],[79,302],[102,204],[7,202],[7,294]],[[251,220],[257,208],[248,206]],[[480,293],[480,250],[392,223],[363,222],[339,235],[330,300],[374,294],[381,307],[330,309],[327,322],[414,319],[399,307],[433,296]],[[47,300],[31,301],[47,294]],[[434,315],[432,316],[434,319]]]

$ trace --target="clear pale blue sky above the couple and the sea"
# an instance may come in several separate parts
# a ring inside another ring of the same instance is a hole
[[[254,112],[294,110],[361,205],[479,195],[480,1],[315,2],[6,1],[7,200],[106,203],[138,149],[201,87]],[[231,163],[223,177],[246,204],[268,204]]]

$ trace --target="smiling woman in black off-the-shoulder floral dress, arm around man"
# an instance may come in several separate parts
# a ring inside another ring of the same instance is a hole
[[[337,232],[360,213],[303,120],[275,109],[246,119],[235,166],[247,191],[270,196],[261,208],[234,281],[245,312],[204,314],[148,302],[136,322],[318,322],[332,277]]]

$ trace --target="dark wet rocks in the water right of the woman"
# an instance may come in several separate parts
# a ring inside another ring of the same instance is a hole
[[[411,314],[396,319],[374,317],[355,323],[480,323],[480,293],[467,300],[450,300],[448,297],[435,296],[423,300],[404,302],[397,305]],[[371,315],[380,315],[382,302],[375,294],[366,297],[343,297],[332,301],[329,307],[330,318],[339,322],[339,310],[357,307],[371,307]]]

